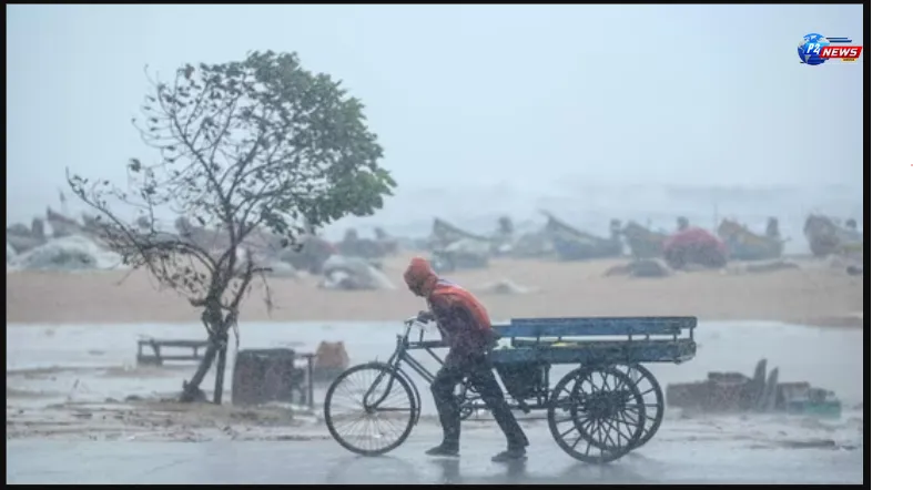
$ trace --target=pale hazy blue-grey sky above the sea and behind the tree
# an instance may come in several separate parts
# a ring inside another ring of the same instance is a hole
[[[862,184],[862,6],[9,6],[8,218],[123,175],[143,67],[297,51],[367,105],[405,186]],[[840,137],[830,127],[839,126]]]

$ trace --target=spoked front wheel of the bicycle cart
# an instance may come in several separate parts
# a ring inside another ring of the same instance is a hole
[[[324,400],[324,419],[333,439],[363,456],[379,456],[405,442],[418,421],[417,392],[407,379],[379,363],[343,371]]]

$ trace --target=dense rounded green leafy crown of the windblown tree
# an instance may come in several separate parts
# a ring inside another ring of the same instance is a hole
[[[372,214],[396,185],[378,166],[383,149],[362,103],[295,54],[186,65],[149,102],[146,141],[165,164],[190,162],[171,175],[203,221],[234,216],[292,238],[302,221]]]

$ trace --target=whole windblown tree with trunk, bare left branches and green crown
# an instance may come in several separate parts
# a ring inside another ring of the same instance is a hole
[[[383,149],[362,103],[341,82],[303,70],[294,53],[187,64],[168,83],[150,83],[144,121],[133,122],[161,160],[131,160],[124,188],[69,172],[68,180],[124,264],[148,269],[202,309],[211,345],[182,398],[202,395],[217,355],[214,401],[221,402],[229,334],[251,282],[264,272],[245,241],[266,231],[280,246],[300,246],[312,226],[374,213],[396,183],[378,166]],[[113,202],[133,215],[115,213]],[[169,214],[227,239],[216,246],[186,227],[165,231]]]

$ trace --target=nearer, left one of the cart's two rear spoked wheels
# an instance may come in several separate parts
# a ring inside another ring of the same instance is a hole
[[[568,372],[555,387],[548,407],[555,442],[590,463],[615,461],[630,451],[643,433],[646,418],[637,386],[612,366]]]

